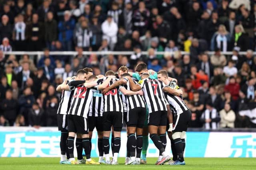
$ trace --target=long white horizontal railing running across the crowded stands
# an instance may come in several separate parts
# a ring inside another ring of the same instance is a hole
[[[164,55],[164,51],[161,52],[155,52],[156,55]],[[180,51],[182,55],[184,54],[189,54],[186,51]],[[207,51],[208,55],[214,54],[214,51]],[[37,59],[40,59],[42,55],[44,55],[43,51],[11,51],[11,52],[4,52],[4,55],[37,55]],[[134,54],[133,51],[83,51],[84,55],[91,55],[91,54],[96,54],[96,55],[132,55]],[[142,55],[147,55],[148,51],[142,51]],[[171,53],[173,54],[173,53]],[[227,51],[223,52],[223,55],[232,55],[232,51]],[[240,55],[245,55],[246,51],[239,52]],[[256,52],[253,53],[256,55]],[[75,56],[77,55],[76,51],[50,51],[50,55],[72,55]]]

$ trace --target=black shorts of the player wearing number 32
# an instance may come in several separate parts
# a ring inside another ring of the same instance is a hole
[[[68,132],[88,134],[88,121],[85,117],[68,115]]]

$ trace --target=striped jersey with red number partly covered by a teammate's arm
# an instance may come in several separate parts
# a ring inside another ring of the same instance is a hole
[[[102,84],[108,77],[97,80],[98,85]],[[108,86],[111,86],[114,82],[118,81],[118,78],[112,78]],[[103,95],[103,112],[106,111],[120,111],[124,112],[121,96],[118,92],[119,87],[110,90]]]

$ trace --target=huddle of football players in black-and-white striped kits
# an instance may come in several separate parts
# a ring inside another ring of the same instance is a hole
[[[138,64],[135,70],[128,72],[126,66],[121,66],[117,74],[107,71],[94,76],[91,68],[84,68],[57,87],[62,92],[57,112],[60,164],[118,164],[125,122],[126,165],[146,164],[148,137],[159,150],[156,165],[185,165],[183,154],[191,112],[182,100],[177,80],[168,77],[165,70],[148,70],[145,63]],[[94,128],[98,133],[98,161],[90,157]],[[170,151],[165,150],[166,132],[172,159]]]

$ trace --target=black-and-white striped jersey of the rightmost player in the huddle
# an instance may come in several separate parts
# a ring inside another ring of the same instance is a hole
[[[189,109],[188,106],[186,106],[186,103],[179,96],[174,96],[166,92],[164,93],[164,96],[170,104],[172,111],[174,111],[174,114],[180,115],[181,113]]]

